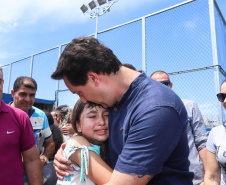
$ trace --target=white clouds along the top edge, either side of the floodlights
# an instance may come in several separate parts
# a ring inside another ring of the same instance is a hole
[[[63,23],[75,23],[88,20],[80,10],[82,4],[90,0],[0,0],[0,31],[7,32],[20,25],[34,24],[37,21],[49,20]],[[144,4],[160,0],[119,0],[114,8],[125,11]]]

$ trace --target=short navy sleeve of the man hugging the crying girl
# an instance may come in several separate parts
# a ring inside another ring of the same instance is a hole
[[[185,128],[186,124],[182,125],[178,113],[171,107],[157,107],[140,113],[130,127],[115,170],[140,175],[160,173]],[[184,136],[186,140],[187,135]],[[144,174],[147,172],[149,174]]]

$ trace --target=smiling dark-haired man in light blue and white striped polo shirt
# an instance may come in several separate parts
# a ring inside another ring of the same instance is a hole
[[[33,78],[20,76],[13,84],[13,89],[11,90],[13,102],[10,104],[12,107],[19,108],[28,114],[36,138],[38,154],[40,155],[43,168],[45,168],[54,153],[55,145],[45,113],[33,106],[36,91],[37,83]],[[43,177],[44,182],[50,178],[46,174],[43,174]],[[24,176],[24,182],[25,184],[27,183],[26,176]]]

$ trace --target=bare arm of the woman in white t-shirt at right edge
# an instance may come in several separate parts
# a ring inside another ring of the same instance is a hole
[[[216,159],[216,154],[207,150],[204,185],[220,185],[221,169]]]

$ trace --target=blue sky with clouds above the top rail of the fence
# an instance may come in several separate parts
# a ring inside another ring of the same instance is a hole
[[[95,32],[80,7],[90,0],[0,0],[0,66]],[[99,17],[98,31],[160,11],[184,0],[118,0]],[[216,1],[226,17],[226,1]]]

